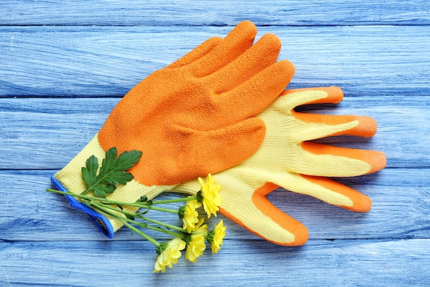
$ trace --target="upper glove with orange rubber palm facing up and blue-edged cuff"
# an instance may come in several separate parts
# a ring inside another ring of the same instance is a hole
[[[244,21],[225,39],[209,39],[150,74],[120,100],[87,147],[53,176],[54,184],[81,193],[87,158],[104,158],[111,147],[118,153],[143,152],[128,170],[134,180],[111,194],[122,202],[135,202],[141,195],[153,198],[249,158],[266,132],[256,115],[279,96],[294,73],[290,62],[277,62],[278,37],[265,34],[253,44],[256,32],[253,23]],[[121,226],[68,199],[93,216],[108,237]]]

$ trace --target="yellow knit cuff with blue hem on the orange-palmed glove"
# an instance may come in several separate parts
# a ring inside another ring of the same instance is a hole
[[[58,171],[52,176],[51,180],[60,191],[70,191],[72,193],[82,193],[87,186],[82,180],[82,167],[85,167],[87,158],[95,156],[98,158],[99,163],[105,156],[104,150],[98,142],[98,135],[89,142],[89,144],[78,153],[63,169]],[[116,200],[119,202],[136,202],[142,195],[146,195],[148,199],[155,198],[159,193],[163,191],[171,191],[175,186],[152,186],[148,187],[144,184],[132,180],[125,185],[120,185],[115,189],[114,193],[106,196],[110,200]],[[115,231],[117,231],[122,224],[117,220],[114,220],[108,215],[98,213],[94,209],[91,209],[86,204],[80,202],[77,198],[73,198],[71,195],[65,195],[67,200],[72,207],[84,211],[91,216],[91,219],[100,231],[108,238],[112,238]],[[124,209],[130,212],[135,212],[137,209],[131,206],[124,206]]]

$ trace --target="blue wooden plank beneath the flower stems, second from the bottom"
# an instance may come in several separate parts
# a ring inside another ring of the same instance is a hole
[[[429,172],[430,169],[385,169],[374,175],[340,180],[372,198],[369,213],[346,211],[283,189],[273,191],[268,198],[279,209],[303,222],[308,227],[310,240],[429,238]],[[107,240],[88,215],[72,209],[62,195],[45,192],[53,188],[49,181],[52,173],[54,171],[0,172],[4,191],[0,201],[0,241]],[[166,198],[172,196],[168,194]],[[179,224],[174,216],[156,212],[151,216]],[[225,224],[229,240],[263,241],[229,220],[225,220]],[[158,233],[150,234],[166,238]],[[115,240],[141,238],[122,228]]]

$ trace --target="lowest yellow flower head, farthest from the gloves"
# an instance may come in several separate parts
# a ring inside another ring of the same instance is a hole
[[[181,257],[181,251],[185,248],[185,242],[181,238],[175,237],[169,242],[162,242],[157,246],[157,261],[154,266],[154,273],[166,271],[166,266],[172,268],[177,264],[178,258]]]

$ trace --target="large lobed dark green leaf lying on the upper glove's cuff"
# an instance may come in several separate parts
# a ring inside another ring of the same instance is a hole
[[[117,157],[115,147],[106,151],[106,156],[102,161],[100,172],[98,171],[98,158],[90,156],[87,159],[86,167],[82,167],[82,179],[87,184],[87,189],[83,194],[93,191],[99,198],[106,198],[106,193],[113,193],[117,184],[126,184],[133,180],[133,174],[126,170],[139,162],[142,151],[124,151]]]

